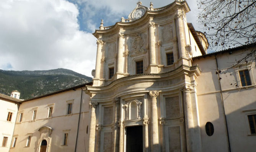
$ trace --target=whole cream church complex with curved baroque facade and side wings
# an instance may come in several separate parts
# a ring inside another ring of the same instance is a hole
[[[6,143],[0,148],[254,152],[256,70],[242,59],[255,44],[207,54],[206,36],[186,22],[189,11],[186,1],[162,8],[138,2],[128,19],[109,27],[102,21],[93,33],[93,82],[29,100],[8,99],[16,104],[16,121],[12,133],[0,135]]]

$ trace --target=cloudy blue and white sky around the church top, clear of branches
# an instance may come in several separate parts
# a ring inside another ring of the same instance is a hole
[[[174,0],[141,0],[154,8]],[[136,7],[138,0],[0,0],[0,69],[50,70],[66,68],[91,76],[96,63],[96,38]],[[196,0],[187,0],[187,22],[196,21]]]

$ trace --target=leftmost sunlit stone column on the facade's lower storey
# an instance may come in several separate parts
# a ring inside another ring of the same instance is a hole
[[[91,101],[91,120],[90,120],[90,134],[89,134],[89,150],[88,152],[94,152],[95,147],[95,130],[96,130],[96,112],[95,109],[97,108],[98,103]]]

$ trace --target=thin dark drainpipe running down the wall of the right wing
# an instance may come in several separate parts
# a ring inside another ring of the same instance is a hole
[[[226,117],[226,113],[225,113],[225,107],[224,107],[224,100],[223,100],[223,95],[222,95],[222,89],[221,89],[221,84],[220,84],[220,73],[219,73],[219,66],[218,66],[218,61],[217,61],[217,57],[216,57],[216,54],[214,54],[215,56],[215,61],[216,61],[216,66],[217,66],[217,73],[218,73],[218,81],[219,81],[219,86],[220,86],[220,96],[221,96],[221,103],[222,103],[222,110],[223,110],[223,114],[224,114],[224,121],[225,121],[225,124],[226,124],[226,134],[227,134],[227,137],[228,137],[228,152],[231,152],[231,149],[230,149],[230,141],[229,141],[229,135],[228,135],[228,124],[227,124],[227,117]]]

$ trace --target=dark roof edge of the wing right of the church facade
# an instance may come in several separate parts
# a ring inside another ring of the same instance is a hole
[[[216,55],[216,54],[225,53],[225,52],[228,52],[228,53],[231,54],[232,51],[247,49],[249,47],[256,47],[256,43],[250,43],[250,44],[246,44],[246,45],[242,45],[242,46],[233,47],[233,48],[230,48],[230,49],[225,49],[225,50],[222,50],[222,51],[216,51],[216,52],[212,52],[212,53],[209,53],[209,54],[193,57],[192,59],[199,59],[201,57],[207,57],[207,56]]]

